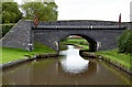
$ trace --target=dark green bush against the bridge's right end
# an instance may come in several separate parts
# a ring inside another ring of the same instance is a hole
[[[125,30],[119,39],[119,52],[132,53],[132,30]]]

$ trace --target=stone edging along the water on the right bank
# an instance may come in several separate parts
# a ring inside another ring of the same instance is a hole
[[[118,67],[119,69],[132,75],[132,72],[128,68],[125,68],[123,65],[121,65],[120,63],[113,63],[111,62],[111,59],[107,59],[105,56],[102,55],[98,55],[98,54],[94,54],[94,53],[84,53],[80,51],[80,55],[84,57],[91,57],[91,58],[99,58],[99,59],[103,59],[105,62]]]

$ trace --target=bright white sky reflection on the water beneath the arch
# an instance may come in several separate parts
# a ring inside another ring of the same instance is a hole
[[[65,58],[59,62],[66,73],[79,74],[88,69],[89,61],[84,59],[79,55],[79,50],[74,48],[73,45],[68,45],[68,50],[62,51],[59,54],[65,55]]]

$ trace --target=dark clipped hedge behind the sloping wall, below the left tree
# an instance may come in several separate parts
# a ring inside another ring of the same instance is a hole
[[[0,34],[2,36],[4,36],[12,29],[13,25],[14,24],[12,24],[12,23],[10,23],[10,24],[1,24],[0,28],[2,28],[2,29],[0,29]]]

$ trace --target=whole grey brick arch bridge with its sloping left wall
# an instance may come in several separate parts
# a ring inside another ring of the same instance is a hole
[[[108,51],[118,46],[118,37],[127,28],[128,23],[119,26],[118,22],[91,20],[40,22],[34,26],[33,21],[20,20],[1,39],[0,44],[32,51],[33,43],[40,42],[58,51],[58,43],[63,39],[79,35],[89,42],[90,51]]]

